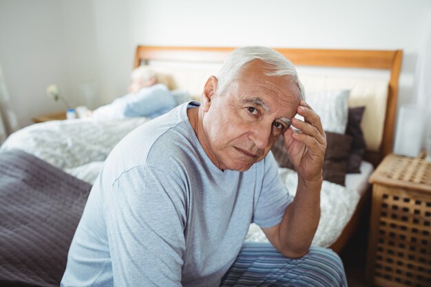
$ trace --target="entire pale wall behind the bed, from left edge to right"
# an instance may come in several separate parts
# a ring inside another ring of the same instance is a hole
[[[63,108],[46,98],[48,83],[76,104],[85,83],[98,103],[124,94],[137,44],[402,49],[401,104],[412,100],[430,8],[429,0],[0,0],[0,63],[20,127]]]

